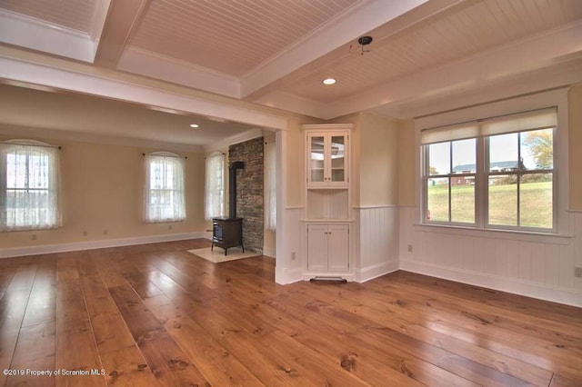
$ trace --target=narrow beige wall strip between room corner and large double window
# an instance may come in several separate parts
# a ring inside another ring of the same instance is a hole
[[[416,145],[415,123],[398,124],[398,204],[416,204]]]

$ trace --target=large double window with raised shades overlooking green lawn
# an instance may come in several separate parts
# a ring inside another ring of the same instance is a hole
[[[555,108],[422,132],[424,223],[554,231]]]

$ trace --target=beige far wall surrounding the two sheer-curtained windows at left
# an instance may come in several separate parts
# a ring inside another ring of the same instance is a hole
[[[22,137],[18,134],[0,136],[0,140],[12,138]],[[55,230],[0,233],[0,247],[75,243],[204,231],[204,154],[176,152],[187,156],[186,221],[144,223],[142,221],[143,153],[171,150],[164,147],[146,149],[112,144],[34,139],[62,146],[60,161],[63,227]],[[33,234],[36,236],[35,240],[32,240]]]

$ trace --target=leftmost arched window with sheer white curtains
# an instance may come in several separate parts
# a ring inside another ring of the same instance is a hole
[[[36,141],[0,144],[1,231],[61,225],[58,154],[58,147]]]

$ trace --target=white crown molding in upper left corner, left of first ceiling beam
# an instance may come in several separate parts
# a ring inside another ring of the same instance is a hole
[[[96,45],[88,33],[51,25],[0,9],[0,42],[93,63]]]

